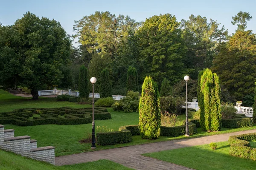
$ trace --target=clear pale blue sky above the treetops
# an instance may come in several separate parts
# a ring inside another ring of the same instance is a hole
[[[67,34],[74,34],[74,20],[95,11],[128,15],[136,21],[166,13],[175,15],[178,21],[188,20],[191,14],[201,15],[208,20],[217,20],[231,34],[236,30],[231,24],[232,17],[244,11],[253,17],[247,23],[247,29],[256,32],[256,0],[0,0],[0,22],[3,25],[14,24],[26,11],[38,17],[54,18]]]

